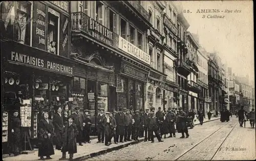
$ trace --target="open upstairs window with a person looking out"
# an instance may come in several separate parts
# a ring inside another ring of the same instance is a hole
[[[48,34],[47,45],[48,51],[59,55],[59,13],[51,8],[48,8]],[[55,46],[52,43],[55,42]]]

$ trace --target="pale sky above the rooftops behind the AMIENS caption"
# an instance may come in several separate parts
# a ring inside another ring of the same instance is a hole
[[[182,1],[183,13],[190,24],[187,31],[199,35],[199,43],[208,52],[219,52],[222,63],[239,76],[254,80],[254,38],[252,1]],[[220,13],[197,13],[201,9],[219,9]],[[232,13],[225,13],[225,10]],[[241,13],[234,13],[241,10]],[[223,12],[221,12],[223,11]],[[222,15],[224,18],[202,18]]]

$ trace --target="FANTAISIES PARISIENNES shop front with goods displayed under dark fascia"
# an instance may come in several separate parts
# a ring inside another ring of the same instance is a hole
[[[31,113],[24,114],[29,124],[22,126],[29,129],[32,143],[36,144],[42,112],[49,111],[52,118],[56,106],[68,102],[74,62],[14,41],[1,42],[1,55],[2,110],[7,112],[8,121],[11,121],[13,110],[18,110],[21,116],[22,104],[30,104]],[[21,119],[23,122],[24,118]],[[7,128],[7,131],[7,134],[11,133],[11,129]],[[2,138],[3,142],[11,139],[10,135],[2,135]]]

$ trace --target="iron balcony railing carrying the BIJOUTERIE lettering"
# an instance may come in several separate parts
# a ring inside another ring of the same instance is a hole
[[[96,20],[94,20],[93,18],[91,18],[90,16],[88,16],[83,12],[72,13],[71,25],[72,25],[73,31],[82,31],[100,40],[105,44],[118,48],[119,35],[112,32],[111,30],[106,28],[104,25],[100,24],[99,22],[97,22]],[[101,26],[99,27],[99,25]],[[107,35],[106,33],[109,33],[109,34]]]

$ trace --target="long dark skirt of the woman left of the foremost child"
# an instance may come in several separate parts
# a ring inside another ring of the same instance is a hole
[[[50,156],[50,155],[54,155],[52,139],[41,140],[41,143],[38,149],[38,156]]]

